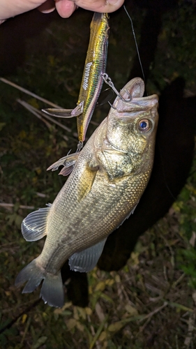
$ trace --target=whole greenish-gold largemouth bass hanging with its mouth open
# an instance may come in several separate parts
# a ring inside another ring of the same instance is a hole
[[[126,101],[127,94],[131,101]],[[43,251],[16,278],[15,285],[27,281],[23,293],[33,292],[43,281],[40,297],[61,308],[64,262],[69,260],[75,272],[89,272],[108,235],[133,214],[151,175],[158,126],[158,96],[143,94],[140,77],[123,87],[123,98],[116,97],[80,151],[54,202],[22,221],[27,241],[46,235]]]

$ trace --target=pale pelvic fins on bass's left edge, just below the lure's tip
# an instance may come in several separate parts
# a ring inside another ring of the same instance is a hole
[[[64,166],[64,168],[61,170],[61,172],[59,172],[59,174],[63,174],[63,176],[68,176],[68,174],[72,172],[79,154],[80,152],[77,151],[76,153],[63,156],[63,158],[60,158],[58,161],[56,161],[56,163],[52,163],[52,165],[50,165],[50,167],[47,168],[47,171],[56,171],[58,170],[59,166],[62,165]]]

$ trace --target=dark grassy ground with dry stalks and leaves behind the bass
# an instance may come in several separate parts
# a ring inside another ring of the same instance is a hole
[[[144,14],[133,10],[137,36]],[[78,11],[70,20],[54,15],[45,30],[27,40],[23,65],[6,78],[53,103],[74,107],[90,20],[86,11]],[[179,75],[186,79],[186,94],[195,94],[195,25],[190,4],[180,3],[165,15],[149,94],[160,94]],[[80,26],[83,31],[78,30]],[[122,13],[113,15],[107,73],[118,89],[125,84],[135,55],[128,26]],[[38,301],[38,290],[22,295],[15,288],[17,272],[43,248],[42,240],[24,241],[22,219],[32,207],[54,200],[65,179],[45,169],[77,145],[73,119],[64,123],[70,132],[54,124],[47,126],[17,103],[18,98],[38,110],[46,106],[0,82],[0,198],[1,203],[10,204],[0,207],[1,329],[6,328],[0,335],[1,348],[195,348],[196,158],[179,198],[140,237],[127,265],[119,272],[95,268],[88,274],[89,306],[73,306],[66,297],[63,309],[52,309]],[[106,114],[103,106],[93,121],[99,123]]]

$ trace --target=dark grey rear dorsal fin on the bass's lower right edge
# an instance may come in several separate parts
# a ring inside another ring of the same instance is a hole
[[[69,266],[74,272],[90,272],[98,262],[107,238],[86,250],[76,252],[69,258]]]

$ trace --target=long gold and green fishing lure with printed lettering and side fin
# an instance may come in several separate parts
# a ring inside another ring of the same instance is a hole
[[[86,53],[77,107],[73,110],[43,109],[43,112],[53,117],[77,117],[79,149],[82,148],[89,122],[103,87],[102,76],[106,68],[107,46],[110,34],[108,19],[107,13],[94,13],[93,15],[89,47]]]

